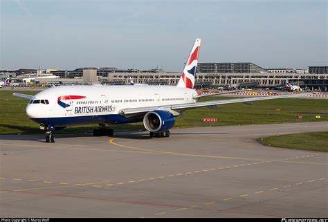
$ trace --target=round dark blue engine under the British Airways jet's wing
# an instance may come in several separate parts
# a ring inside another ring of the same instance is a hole
[[[163,132],[174,126],[175,118],[169,111],[155,110],[146,113],[143,118],[143,125],[148,131]]]

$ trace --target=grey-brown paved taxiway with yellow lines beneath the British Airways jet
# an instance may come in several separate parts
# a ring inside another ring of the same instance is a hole
[[[256,139],[328,122],[0,136],[0,217],[328,217],[327,153]]]

